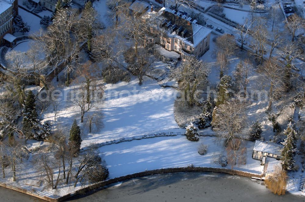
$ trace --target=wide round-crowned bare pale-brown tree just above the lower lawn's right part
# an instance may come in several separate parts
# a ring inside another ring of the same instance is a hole
[[[245,107],[238,100],[225,101],[217,107],[212,126],[217,131],[218,138],[224,139],[224,145],[228,146],[235,138],[248,138],[248,134],[242,133],[246,123]]]

